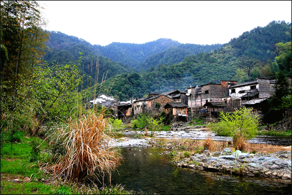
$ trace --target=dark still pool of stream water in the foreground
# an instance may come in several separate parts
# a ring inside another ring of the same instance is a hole
[[[281,180],[244,178],[179,168],[170,164],[162,148],[120,147],[122,164],[111,184],[126,190],[156,194],[291,194]]]

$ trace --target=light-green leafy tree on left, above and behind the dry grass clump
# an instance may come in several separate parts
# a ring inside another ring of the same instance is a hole
[[[69,117],[80,99],[77,86],[81,83],[81,76],[77,65],[38,66],[33,77],[38,114],[44,119]]]

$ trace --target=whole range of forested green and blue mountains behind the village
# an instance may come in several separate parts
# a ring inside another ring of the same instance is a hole
[[[291,48],[289,41],[291,23],[284,21],[272,21],[266,27],[245,32],[224,45],[181,44],[171,39],[158,39],[144,44],[111,43],[103,47],[51,32],[48,44],[51,51],[45,59],[49,62],[58,59],[59,63],[64,63],[76,60],[82,52],[80,68],[86,76],[91,76],[85,79],[88,81],[84,86],[95,83],[93,78],[98,74],[97,93],[126,100],[154,91],[184,90],[191,82],[201,85],[223,79],[244,82],[256,77],[273,77],[281,69],[275,58],[281,54],[280,50]],[[100,56],[98,63],[97,56]],[[291,69],[287,67],[285,70],[289,75]],[[142,72],[134,73],[136,68]],[[106,75],[107,80],[100,86]]]

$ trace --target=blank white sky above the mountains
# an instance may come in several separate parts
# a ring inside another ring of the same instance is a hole
[[[44,29],[102,46],[111,42],[142,44],[161,38],[224,44],[273,20],[292,20],[291,0],[37,2],[44,7]]]

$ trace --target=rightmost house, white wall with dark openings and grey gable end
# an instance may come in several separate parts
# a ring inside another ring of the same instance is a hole
[[[231,100],[251,100],[269,98],[274,93],[275,79],[256,78],[254,81],[238,83],[229,86]]]

